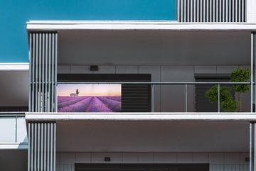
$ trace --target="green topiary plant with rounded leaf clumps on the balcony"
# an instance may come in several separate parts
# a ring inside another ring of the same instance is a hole
[[[247,82],[250,79],[250,69],[242,69],[238,68],[231,72],[230,81],[231,82]],[[232,88],[228,88],[225,86],[220,86],[220,109],[223,111],[237,111],[240,105],[239,101],[236,101],[231,95],[231,91],[240,93],[245,93],[250,90],[250,86],[248,84],[238,84],[233,85]],[[218,101],[218,85],[214,85],[210,87],[206,91],[206,97],[208,100],[213,103]]]

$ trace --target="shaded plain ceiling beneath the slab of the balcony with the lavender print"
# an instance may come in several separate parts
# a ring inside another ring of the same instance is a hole
[[[57,150],[84,152],[245,152],[245,121],[58,121]]]

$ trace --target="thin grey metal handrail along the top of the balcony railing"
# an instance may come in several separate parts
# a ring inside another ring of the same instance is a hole
[[[58,84],[251,84],[250,82],[58,82]],[[255,82],[253,82],[255,84]]]

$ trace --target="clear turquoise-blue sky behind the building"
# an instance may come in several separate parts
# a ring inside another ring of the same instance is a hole
[[[176,0],[1,0],[0,62],[28,62],[29,20],[175,20]]]

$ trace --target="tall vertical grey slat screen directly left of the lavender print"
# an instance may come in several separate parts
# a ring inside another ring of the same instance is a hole
[[[29,111],[56,111],[57,33],[29,33]]]

